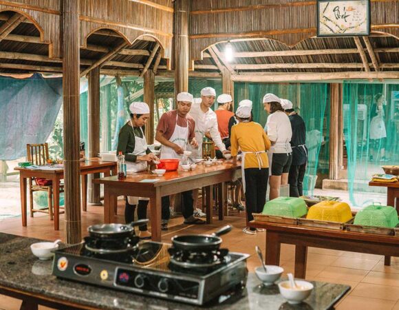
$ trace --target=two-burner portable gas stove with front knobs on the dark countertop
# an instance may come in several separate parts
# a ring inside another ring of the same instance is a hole
[[[93,251],[92,245],[55,251],[54,276],[190,304],[205,304],[246,285],[248,254],[177,251],[158,242],[105,252]]]

